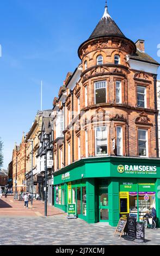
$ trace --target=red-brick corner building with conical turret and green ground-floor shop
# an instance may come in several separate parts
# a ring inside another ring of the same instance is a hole
[[[159,221],[159,63],[107,6],[78,56],[53,101],[54,205],[67,212],[76,203],[78,217],[113,226],[154,205]]]

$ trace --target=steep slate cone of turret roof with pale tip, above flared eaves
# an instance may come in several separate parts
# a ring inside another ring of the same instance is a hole
[[[116,25],[112,17],[110,17],[108,13],[108,7],[106,5],[104,14],[96,28],[94,29],[94,32],[91,34],[89,39],[94,39],[100,36],[108,36],[108,35],[114,35],[114,36],[121,36],[125,38],[126,36],[121,32],[119,27]]]

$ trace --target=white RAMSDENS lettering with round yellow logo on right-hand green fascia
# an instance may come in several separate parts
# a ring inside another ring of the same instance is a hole
[[[149,173],[156,174],[157,166],[139,166],[139,165],[119,165],[118,166],[119,173]]]

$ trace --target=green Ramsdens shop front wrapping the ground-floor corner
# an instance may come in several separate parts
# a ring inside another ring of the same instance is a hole
[[[129,157],[82,159],[54,173],[54,205],[88,223],[109,222],[134,216],[143,220],[153,205],[160,218],[160,161]]]

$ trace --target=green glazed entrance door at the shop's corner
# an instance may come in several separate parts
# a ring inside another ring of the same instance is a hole
[[[99,187],[99,220],[108,222],[108,186],[100,185]]]

